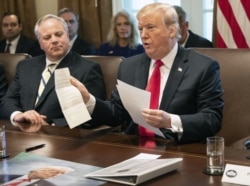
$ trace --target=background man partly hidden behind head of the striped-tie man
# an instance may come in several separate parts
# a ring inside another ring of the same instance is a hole
[[[71,50],[80,55],[95,55],[95,47],[77,35],[79,28],[78,14],[69,8],[63,8],[58,11],[58,16],[62,17],[68,25]]]

